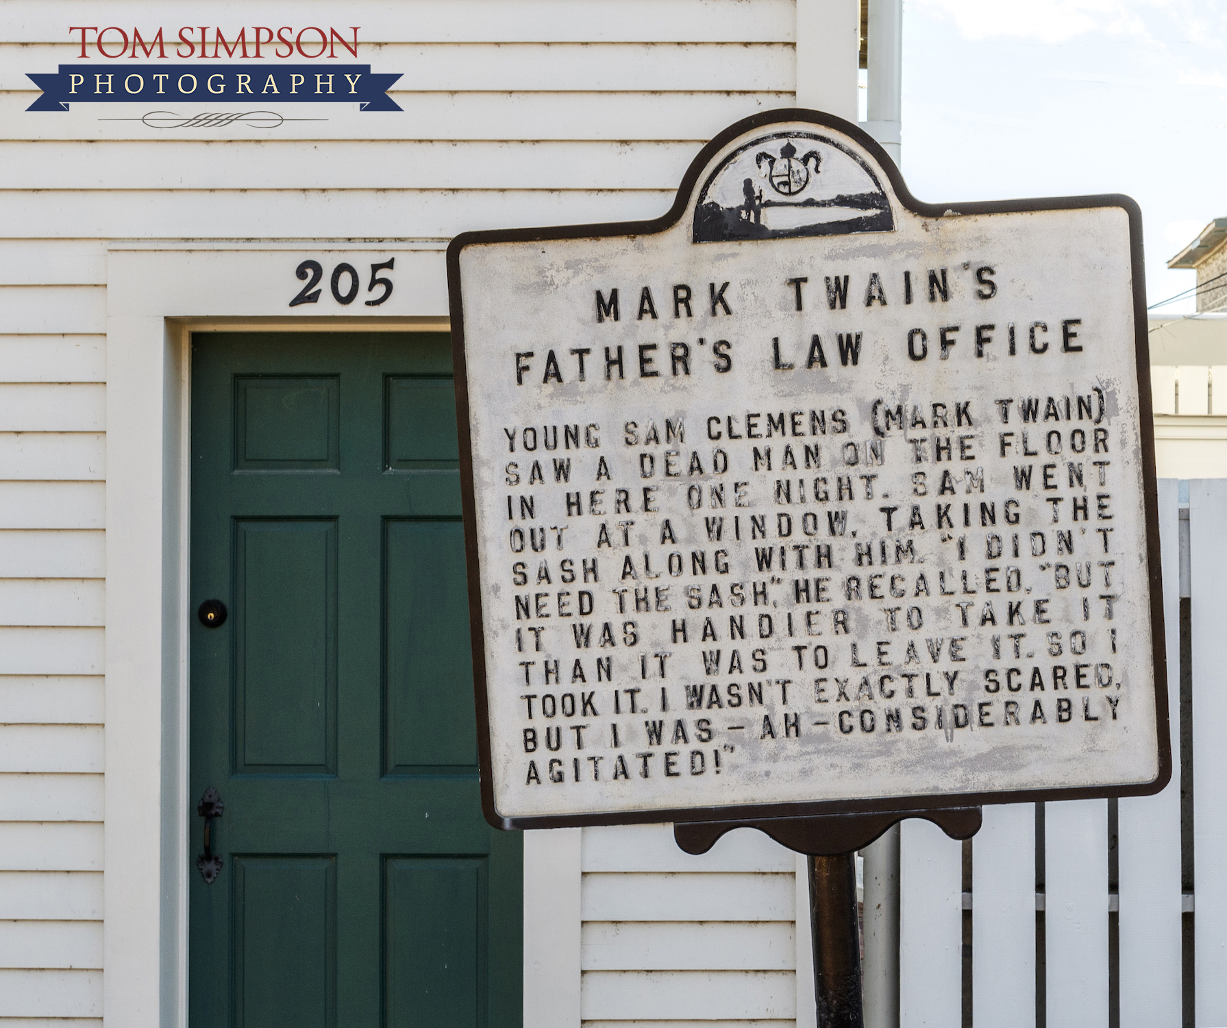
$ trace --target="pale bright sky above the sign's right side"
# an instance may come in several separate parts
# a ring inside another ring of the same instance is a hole
[[[904,0],[902,117],[921,200],[1133,196],[1155,304],[1227,216],[1227,0]]]

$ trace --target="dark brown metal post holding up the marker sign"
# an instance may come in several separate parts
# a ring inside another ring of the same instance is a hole
[[[818,1028],[864,1028],[856,856],[811,856],[809,866]]]

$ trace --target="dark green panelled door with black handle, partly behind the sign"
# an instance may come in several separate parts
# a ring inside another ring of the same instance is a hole
[[[196,335],[191,426],[193,1028],[519,1026],[448,337]]]

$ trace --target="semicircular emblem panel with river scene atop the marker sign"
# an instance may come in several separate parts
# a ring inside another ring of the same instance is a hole
[[[756,135],[707,177],[693,242],[891,232],[891,201],[845,142],[810,130]]]

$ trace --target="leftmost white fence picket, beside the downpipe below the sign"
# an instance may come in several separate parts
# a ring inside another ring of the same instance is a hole
[[[928,821],[899,840],[899,1024],[960,1028],[963,844]]]

